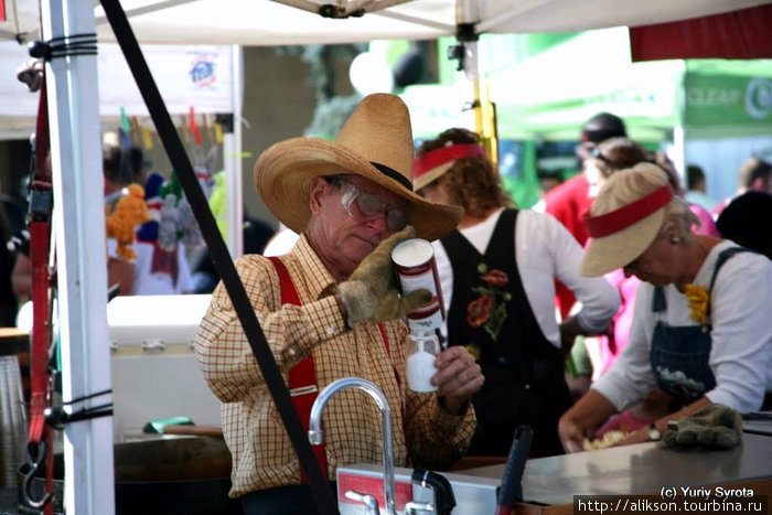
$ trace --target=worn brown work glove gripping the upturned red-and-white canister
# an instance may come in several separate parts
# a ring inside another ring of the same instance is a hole
[[[408,225],[395,233],[367,256],[347,281],[341,282],[337,290],[349,312],[349,326],[356,322],[384,322],[404,316],[431,301],[429,290],[417,290],[401,297],[392,266],[392,249],[400,242],[416,236],[416,229]]]

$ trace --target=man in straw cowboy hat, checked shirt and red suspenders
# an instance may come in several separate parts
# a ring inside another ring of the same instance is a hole
[[[412,152],[407,107],[387,94],[365,97],[334,142],[294,138],[274,144],[257,160],[255,185],[268,208],[301,237],[280,259],[244,256],[237,269],[276,361],[289,375],[290,391],[305,385],[315,391],[345,376],[375,383],[392,408],[395,463],[441,469],[469,444],[475,425],[469,399],[483,377],[474,357],[454,347],[436,361],[436,393],[406,389],[401,316],[427,303],[430,293],[398,294],[390,250],[409,237],[438,238],[461,217],[460,208],[412,193]],[[224,403],[230,496],[243,498],[246,513],[314,513],[222,285],[195,348]],[[310,378],[298,378],[296,365],[309,357]],[[343,390],[330,400],[320,458],[330,479],[337,466],[380,461],[379,427],[378,410],[360,393]]]

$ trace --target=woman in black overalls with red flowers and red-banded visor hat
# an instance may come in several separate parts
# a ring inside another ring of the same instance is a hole
[[[452,346],[472,348],[485,384],[474,396],[478,429],[469,452],[507,455],[515,429],[534,429],[532,457],[562,453],[560,415],[572,404],[565,352],[578,334],[604,331],[619,307],[602,278],[579,275],[582,250],[553,216],[512,208],[498,172],[467,129],[425,141],[416,189],[464,208],[457,230],[435,243]],[[555,279],[583,307],[558,326]]]

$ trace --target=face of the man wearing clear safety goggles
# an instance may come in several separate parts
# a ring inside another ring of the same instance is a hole
[[[349,201],[347,208],[344,200]],[[368,210],[362,210],[361,202],[366,201],[376,213],[365,214]],[[365,178],[346,175],[340,186],[317,178],[311,184],[308,234],[333,276],[347,278],[382,240],[398,230],[389,226],[388,218],[395,225],[406,210],[405,199]]]

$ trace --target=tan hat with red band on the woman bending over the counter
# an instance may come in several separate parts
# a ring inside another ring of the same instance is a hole
[[[590,246],[582,276],[602,276],[635,260],[656,239],[673,200],[667,174],[641,163],[611,175],[585,215]]]

